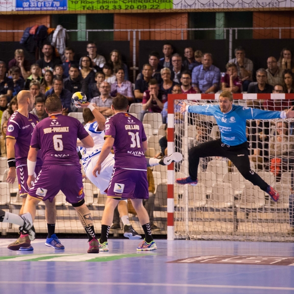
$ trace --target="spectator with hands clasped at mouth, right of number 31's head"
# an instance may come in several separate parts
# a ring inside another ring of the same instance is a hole
[[[161,113],[163,104],[166,100],[162,100],[162,95],[159,92],[157,80],[151,78],[148,83],[148,90],[143,94],[142,109],[143,112]],[[142,115],[143,118],[144,115]]]

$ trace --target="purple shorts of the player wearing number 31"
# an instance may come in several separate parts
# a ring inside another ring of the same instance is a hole
[[[147,171],[114,168],[107,197],[148,199]]]

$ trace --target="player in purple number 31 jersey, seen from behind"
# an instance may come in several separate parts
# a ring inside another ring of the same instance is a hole
[[[122,198],[130,198],[139,221],[145,232],[145,240],[137,250],[155,250],[148,213],[143,206],[143,199],[148,199],[147,163],[144,156],[147,150],[147,137],[143,124],[126,113],[128,99],[122,95],[113,98],[111,108],[115,115],[105,123],[105,143],[93,170],[97,177],[101,164],[114,147],[115,164],[110,179],[107,200],[101,221],[101,251],[108,251],[108,232],[113,220],[113,212]]]

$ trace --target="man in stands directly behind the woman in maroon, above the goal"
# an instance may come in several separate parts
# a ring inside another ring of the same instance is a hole
[[[245,50],[239,46],[235,49],[235,58],[229,60],[229,63],[237,65],[238,75],[243,82],[243,91],[247,92],[250,82],[252,82],[253,62],[245,58]]]

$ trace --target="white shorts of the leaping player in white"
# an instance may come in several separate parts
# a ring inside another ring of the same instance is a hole
[[[102,163],[100,174],[97,174],[97,178],[93,175],[93,170],[96,166],[99,155],[94,156],[89,162],[85,174],[87,178],[100,190],[101,194],[106,194],[104,191],[109,186],[109,181],[112,175],[114,166],[114,154],[109,154]]]

